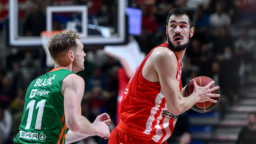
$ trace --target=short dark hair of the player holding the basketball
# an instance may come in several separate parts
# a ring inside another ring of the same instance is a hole
[[[175,15],[175,16],[183,16],[183,15],[186,15],[186,16],[188,16],[189,28],[192,28],[192,27],[193,27],[194,17],[193,17],[192,12],[190,12],[189,10],[184,9],[184,8],[180,8],[180,7],[171,9],[171,10],[169,11],[169,13],[168,13],[168,15],[167,15],[167,19],[166,19],[166,25],[167,25],[167,26],[168,26],[170,17],[171,17],[172,15]]]

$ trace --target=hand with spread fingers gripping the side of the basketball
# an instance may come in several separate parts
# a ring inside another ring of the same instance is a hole
[[[194,92],[197,93],[197,96],[199,97],[198,102],[205,102],[205,101],[211,101],[213,103],[216,103],[217,100],[211,99],[211,97],[220,97],[220,94],[213,94],[212,92],[218,90],[220,87],[215,86],[210,89],[210,87],[215,83],[214,81],[211,81],[209,84],[207,84],[204,87],[201,87],[196,84],[195,80],[191,80],[192,84],[194,85]]]

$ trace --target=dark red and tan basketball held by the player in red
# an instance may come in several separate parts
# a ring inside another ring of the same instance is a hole
[[[201,87],[204,87],[207,84],[209,84],[211,81],[213,81],[212,78],[207,77],[207,76],[198,76],[198,77],[194,78],[194,80],[196,81],[196,84],[201,86]],[[215,87],[215,86],[218,86],[218,85],[216,83],[214,83],[210,87],[210,89]],[[193,91],[194,91],[194,85],[190,81],[188,83],[186,89],[185,89],[184,96],[188,97],[191,93],[193,93]],[[214,91],[212,93],[220,94],[220,89],[218,89],[218,90],[216,90],[216,91]],[[209,111],[211,111],[212,109],[214,109],[218,105],[218,103],[220,101],[220,97],[218,97],[218,98],[211,98],[211,99],[217,100],[217,103],[212,103],[211,101],[198,102],[191,109],[193,109],[196,112],[200,112],[200,113],[209,112]]]

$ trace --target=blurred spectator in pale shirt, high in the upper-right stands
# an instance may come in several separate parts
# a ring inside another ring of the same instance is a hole
[[[216,2],[216,12],[210,16],[210,32],[213,36],[217,36],[221,28],[229,29],[231,19],[227,13],[223,11],[223,3]]]

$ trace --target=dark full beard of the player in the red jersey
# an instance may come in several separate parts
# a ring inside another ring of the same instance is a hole
[[[174,36],[182,36],[182,35],[174,35]],[[174,37],[173,36],[173,37]],[[182,36],[183,37],[183,36]],[[175,51],[175,52],[180,52],[180,51],[184,51],[186,48],[188,48],[189,44],[190,44],[190,32],[189,32],[189,35],[188,35],[188,41],[184,44],[180,44],[178,43],[177,45],[174,45],[172,44],[171,40],[170,40],[170,37],[169,37],[169,33],[167,33],[167,43],[168,43],[168,47],[172,50],[172,51]]]

